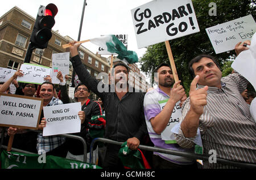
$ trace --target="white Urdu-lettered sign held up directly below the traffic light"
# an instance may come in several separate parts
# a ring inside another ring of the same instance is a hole
[[[24,75],[22,77],[18,76],[17,80],[22,83],[42,84],[44,78],[51,74],[51,68],[30,63],[22,64],[20,70]]]

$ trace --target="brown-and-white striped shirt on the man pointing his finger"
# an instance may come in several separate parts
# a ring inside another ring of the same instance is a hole
[[[255,121],[241,96],[247,80],[240,74],[221,78],[222,87],[208,87],[207,105],[199,118],[199,129],[203,140],[204,154],[211,149],[218,158],[230,161],[256,163]],[[198,85],[197,88],[203,88]],[[184,102],[181,121],[190,108],[189,98]],[[176,141],[181,147],[192,147],[195,138],[185,138],[181,128]],[[208,155],[209,156],[209,155]],[[204,162],[204,168],[234,168],[233,166]]]

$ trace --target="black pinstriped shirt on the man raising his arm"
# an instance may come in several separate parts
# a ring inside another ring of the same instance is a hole
[[[98,80],[90,76],[80,60],[79,55],[71,58],[72,65],[79,76],[79,80],[91,91],[101,97],[105,108],[105,138],[126,142],[127,139],[136,137],[142,141],[147,134],[147,127],[144,119],[143,98],[145,93],[127,92],[119,100],[112,87],[107,88],[108,92],[98,91]]]

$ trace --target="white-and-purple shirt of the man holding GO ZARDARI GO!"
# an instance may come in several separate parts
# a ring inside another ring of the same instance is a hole
[[[160,105],[160,102],[168,100],[169,98],[170,96],[164,93],[159,87],[152,91],[148,91],[144,97],[144,114],[145,114],[147,130],[148,130],[148,134],[150,135],[150,139],[152,143],[154,143],[155,147],[172,149],[172,150],[181,151],[181,152],[193,152],[192,149],[181,148],[177,143],[166,144],[165,141],[162,140],[162,136],[159,134],[156,134],[152,128],[150,119],[156,117],[156,115],[158,115],[163,110],[162,106]],[[174,123],[178,123],[178,122],[174,122]],[[171,133],[172,132],[170,132],[170,136],[171,136]],[[167,161],[171,161],[171,162],[174,162],[175,164],[180,164],[180,165],[188,165],[195,162],[195,160],[182,157],[182,156],[174,156],[174,155],[169,155],[169,154],[159,153],[159,152],[154,152],[154,154],[164,158]]]

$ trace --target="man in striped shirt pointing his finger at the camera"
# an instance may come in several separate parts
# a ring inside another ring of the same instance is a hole
[[[241,42],[235,47],[237,55],[245,49]],[[210,55],[193,58],[188,67],[194,79],[182,107],[177,143],[183,148],[193,147],[199,128],[204,155],[214,151],[218,158],[255,164],[255,121],[241,96],[247,80],[237,72],[221,78],[220,67]],[[237,167],[209,159],[203,168]]]

